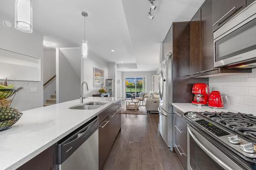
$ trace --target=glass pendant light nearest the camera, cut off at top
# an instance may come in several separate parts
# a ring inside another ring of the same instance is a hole
[[[32,0],[15,0],[15,29],[32,33]]]

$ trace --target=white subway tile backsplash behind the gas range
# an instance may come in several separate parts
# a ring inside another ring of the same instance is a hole
[[[227,95],[226,109],[256,115],[256,68],[249,74],[209,78],[209,88]]]

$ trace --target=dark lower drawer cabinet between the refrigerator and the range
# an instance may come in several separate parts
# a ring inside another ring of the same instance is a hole
[[[187,169],[187,123],[184,113],[174,107],[174,151],[177,153],[182,166]]]

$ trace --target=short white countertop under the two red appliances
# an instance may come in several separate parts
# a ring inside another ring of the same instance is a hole
[[[204,112],[204,111],[215,112],[216,111],[216,112],[234,112],[234,113],[238,112],[238,111],[229,110],[229,109],[213,109],[213,108],[210,108],[209,106],[198,107],[197,105],[193,105],[191,103],[172,103],[172,105],[184,113],[189,111],[193,111],[193,112]]]

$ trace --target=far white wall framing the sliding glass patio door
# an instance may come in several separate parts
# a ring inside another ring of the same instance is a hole
[[[122,99],[125,99],[125,78],[126,77],[146,77],[146,92],[149,93],[152,90],[152,76],[156,74],[156,71],[131,71],[122,72]]]

